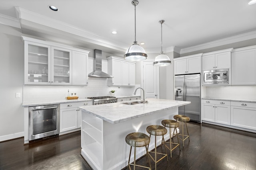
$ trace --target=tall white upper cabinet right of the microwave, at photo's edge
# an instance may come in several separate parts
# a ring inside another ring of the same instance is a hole
[[[232,52],[232,85],[256,84],[256,46]]]

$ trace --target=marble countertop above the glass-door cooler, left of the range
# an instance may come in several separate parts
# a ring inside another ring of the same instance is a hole
[[[73,99],[73,100],[42,100],[36,102],[23,102],[22,107],[30,107],[30,106],[42,106],[42,105],[50,105],[50,104],[64,104],[64,103],[74,103],[74,102],[89,102],[92,99],[82,98],[82,99]]]

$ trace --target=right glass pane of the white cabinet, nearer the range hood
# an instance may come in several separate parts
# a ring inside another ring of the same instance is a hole
[[[69,83],[70,52],[54,49],[54,82]]]

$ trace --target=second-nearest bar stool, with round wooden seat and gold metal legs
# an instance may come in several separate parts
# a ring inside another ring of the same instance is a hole
[[[149,154],[149,156],[152,158],[152,160],[154,160],[154,162],[155,162],[155,170],[156,170],[156,163],[157,162],[162,160],[164,157],[166,157],[167,161],[168,161],[166,145],[165,145],[165,141],[164,141],[164,135],[167,133],[167,129],[165,127],[163,127],[163,126],[160,126],[160,125],[150,125],[150,126],[148,126],[146,128],[146,130],[150,134],[149,138],[151,137],[151,135],[155,136],[155,150],[154,150],[154,152],[152,152],[152,151],[148,151],[148,152],[155,154],[155,158],[153,158],[151,156],[151,154]],[[166,154],[156,152],[156,136],[162,136],[162,141],[164,141],[164,149],[165,149]],[[162,158],[160,158],[159,160],[156,160],[156,154],[161,154],[161,155],[164,155],[164,156],[162,156]]]

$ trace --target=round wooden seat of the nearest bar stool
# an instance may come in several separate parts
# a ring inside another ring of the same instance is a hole
[[[132,147],[145,147],[150,143],[148,135],[140,132],[130,133],[125,137],[125,141]]]

